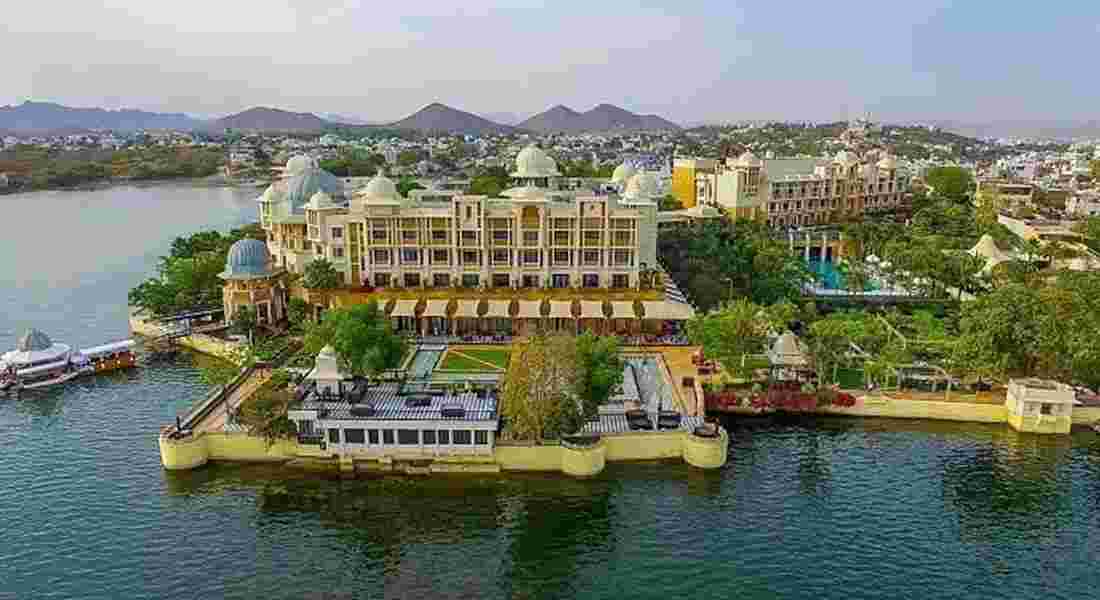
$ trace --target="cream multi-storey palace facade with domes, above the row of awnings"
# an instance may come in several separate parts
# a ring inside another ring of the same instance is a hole
[[[648,173],[616,182],[620,194],[562,190],[554,162],[529,146],[512,174],[519,185],[504,198],[404,198],[384,176],[349,194],[311,168],[260,198],[268,249],[290,271],[323,257],[348,285],[631,288],[657,266]]]

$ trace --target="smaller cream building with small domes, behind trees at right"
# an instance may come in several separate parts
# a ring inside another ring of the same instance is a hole
[[[908,175],[899,171],[893,157],[862,162],[849,152],[832,161],[761,160],[746,152],[713,170],[694,171],[695,204],[780,227],[824,225],[891,210],[910,189]]]

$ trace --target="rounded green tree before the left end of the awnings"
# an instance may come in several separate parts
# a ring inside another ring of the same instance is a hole
[[[396,369],[405,357],[405,339],[396,335],[388,319],[371,301],[324,313],[321,323],[308,328],[304,351],[316,354],[331,346],[341,367],[354,375],[373,375]]]

